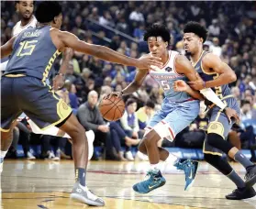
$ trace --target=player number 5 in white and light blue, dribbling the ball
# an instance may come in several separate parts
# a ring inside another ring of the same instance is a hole
[[[139,144],[139,151],[148,155],[150,159],[148,172],[150,178],[133,186],[134,191],[139,193],[147,193],[164,185],[165,179],[161,175],[160,159],[172,163],[179,170],[184,170],[185,190],[192,186],[198,166],[198,162],[193,160],[182,163],[166,149],[157,146],[161,138],[173,141],[179,132],[189,126],[199,113],[199,100],[204,99],[200,93],[191,88],[187,89],[187,92],[176,91],[177,82],[195,81],[198,78],[189,60],[177,51],[167,49],[170,38],[169,30],[164,26],[153,24],[148,28],[144,40],[148,42],[150,54],[146,56],[160,57],[163,67],[155,68],[155,71],[148,69],[138,71],[134,81],[127,88],[121,93],[112,93],[120,96],[137,91],[148,73],[164,90],[165,98],[161,104],[161,110],[152,116],[149,126],[145,128],[145,136]],[[210,96],[217,98],[215,93]]]

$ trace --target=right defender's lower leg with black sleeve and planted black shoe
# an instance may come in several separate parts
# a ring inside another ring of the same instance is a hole
[[[252,187],[247,189],[245,182],[239,177],[238,173],[229,165],[227,158],[219,155],[205,154],[206,161],[219,170],[223,175],[227,176],[230,181],[233,181],[238,189],[226,195],[229,200],[241,200],[250,198],[256,195]]]

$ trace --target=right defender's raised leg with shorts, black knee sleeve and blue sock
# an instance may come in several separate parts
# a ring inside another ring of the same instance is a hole
[[[235,99],[228,99],[228,105],[234,109],[238,109],[239,112],[239,107]],[[207,144],[220,149],[230,158],[238,161],[247,170],[245,176],[246,185],[248,187],[254,185],[256,183],[256,165],[254,165],[250,159],[247,159],[238,148],[225,140],[228,137],[228,132],[232,126],[232,124],[228,123],[227,116],[223,112],[218,111],[217,108],[214,108],[209,122],[206,137]]]

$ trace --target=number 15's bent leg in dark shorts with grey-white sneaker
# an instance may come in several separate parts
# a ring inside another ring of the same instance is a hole
[[[104,201],[90,192],[86,186],[88,143],[83,126],[72,115],[72,108],[51,91],[50,87],[44,86],[39,79],[25,77],[19,85],[22,85],[24,90],[19,94],[22,101],[21,108],[39,128],[44,130],[50,126],[60,126],[62,131],[72,137],[76,179],[72,189],[72,199],[89,205],[105,205]]]

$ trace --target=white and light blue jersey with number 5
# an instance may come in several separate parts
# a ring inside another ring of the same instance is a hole
[[[175,57],[179,54],[177,51],[169,50],[169,60],[159,71],[150,71],[152,76],[164,91],[164,96],[169,102],[182,103],[192,99],[191,95],[185,92],[175,92],[173,83],[177,80],[188,82],[188,79],[175,71]]]

